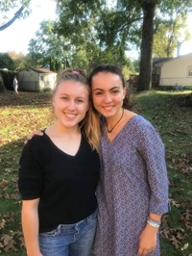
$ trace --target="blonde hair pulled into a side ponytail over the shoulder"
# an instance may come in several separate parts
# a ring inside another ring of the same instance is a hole
[[[91,101],[91,90],[88,85],[87,76],[84,70],[80,68],[66,69],[60,71],[56,80],[56,86],[53,91],[53,95],[55,95],[58,87],[62,81],[76,81],[85,86],[89,93],[89,108],[86,112],[84,119],[79,123],[80,131],[84,135],[84,138],[92,149],[99,151],[100,145],[100,118],[96,111],[93,109],[92,101]]]

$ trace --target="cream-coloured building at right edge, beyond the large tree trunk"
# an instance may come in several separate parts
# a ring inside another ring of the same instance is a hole
[[[192,53],[155,64],[160,86],[192,86]]]

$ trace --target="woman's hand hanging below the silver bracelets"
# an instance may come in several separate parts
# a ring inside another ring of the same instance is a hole
[[[156,249],[157,231],[157,228],[150,226],[149,224],[146,225],[139,236],[138,255],[148,255]]]

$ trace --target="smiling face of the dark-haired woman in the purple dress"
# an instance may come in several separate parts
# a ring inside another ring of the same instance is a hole
[[[111,72],[99,72],[92,77],[92,98],[95,109],[106,118],[119,115],[126,90],[121,78]]]

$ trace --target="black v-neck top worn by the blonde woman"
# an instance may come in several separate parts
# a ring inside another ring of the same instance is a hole
[[[39,232],[76,223],[96,210],[100,160],[84,137],[76,155],[71,156],[46,134],[35,136],[24,146],[19,164],[22,200],[40,198]]]

